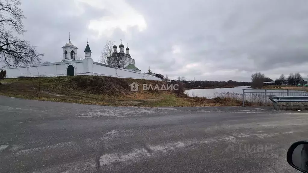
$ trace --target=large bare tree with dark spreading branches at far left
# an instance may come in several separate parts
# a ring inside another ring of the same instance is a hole
[[[7,66],[29,65],[40,62],[43,53],[14,33],[24,34],[22,10],[19,0],[0,1],[0,61]]]

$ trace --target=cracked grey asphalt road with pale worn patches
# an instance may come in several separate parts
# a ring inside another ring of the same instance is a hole
[[[307,112],[107,107],[0,96],[0,172],[299,172]]]

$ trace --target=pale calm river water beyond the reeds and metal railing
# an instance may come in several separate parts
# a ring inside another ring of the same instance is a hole
[[[224,95],[224,93],[232,93],[233,95],[242,95],[243,89],[249,89],[245,90],[245,92],[264,92],[265,90],[259,90],[259,89],[252,89],[250,86],[239,86],[234,88],[213,88],[213,89],[190,89],[186,90],[185,94],[188,94],[188,96],[192,97],[206,97],[208,99],[219,97],[221,95]],[[287,92],[287,90],[267,90],[268,92]],[[298,90],[289,90],[289,92],[305,92],[305,91],[298,91]],[[229,95],[229,94],[228,94]]]

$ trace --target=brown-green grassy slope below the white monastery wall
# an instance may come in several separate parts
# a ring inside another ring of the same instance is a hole
[[[123,79],[105,76],[42,77],[37,97],[39,78],[11,78],[2,80],[0,95],[57,102],[99,104],[111,106],[238,106],[240,101],[228,99],[177,96],[172,91],[146,90],[143,84],[165,84],[163,81]],[[139,84],[139,91],[130,91],[130,84]]]

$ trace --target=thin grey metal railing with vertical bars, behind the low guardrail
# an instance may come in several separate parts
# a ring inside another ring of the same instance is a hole
[[[273,105],[269,96],[308,96],[308,92],[294,91],[286,89],[282,92],[277,92],[277,89],[243,89],[242,106],[245,104],[261,104],[261,105]]]

